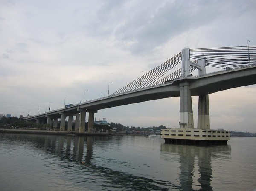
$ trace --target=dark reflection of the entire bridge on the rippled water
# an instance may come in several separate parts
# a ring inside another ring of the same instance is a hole
[[[7,136],[12,138],[17,135],[6,134],[6,137]],[[230,157],[231,151],[230,145],[204,148],[161,144],[161,153],[164,152],[165,155],[168,153],[170,158],[174,155],[179,157],[180,183],[179,185],[175,185],[171,181],[146,178],[125,173],[121,170],[117,171],[111,168],[95,165],[92,161],[99,160],[101,157],[99,154],[104,150],[104,147],[99,148],[99,145],[111,144],[111,139],[113,137],[29,135],[27,138],[26,136],[28,135],[19,134],[18,139],[29,141],[31,147],[34,149],[36,148],[40,152],[43,151],[46,154],[57,157],[56,160],[58,160],[59,165],[62,168],[70,168],[77,174],[77,176],[74,177],[76,182],[95,181],[102,187],[106,185],[110,187],[115,186],[117,190],[118,188],[122,188],[122,190],[193,191],[200,190],[201,188],[201,190],[212,191],[212,160],[219,160],[218,154],[222,152],[227,153],[226,157],[228,158]],[[93,148],[97,150],[97,154],[93,153]],[[118,156],[115,157],[118,158]],[[82,164],[82,162],[84,164]],[[195,168],[196,163],[198,166],[198,173]],[[165,168],[168,168],[168,166],[165,165]],[[169,169],[168,176],[172,176],[172,174],[176,173],[173,170],[174,169],[172,168]],[[198,178],[195,180],[197,174]],[[92,177],[92,179],[90,177]]]

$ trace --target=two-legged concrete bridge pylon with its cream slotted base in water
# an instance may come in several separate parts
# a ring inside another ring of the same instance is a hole
[[[210,130],[209,95],[198,97],[198,125],[194,127],[192,98],[190,91],[190,66],[198,69],[199,75],[206,74],[205,57],[198,57],[192,62],[189,48],[182,50],[182,66],[180,81],[180,128],[161,130],[161,137],[166,143],[193,144],[193,145],[222,145],[230,140],[230,131]]]

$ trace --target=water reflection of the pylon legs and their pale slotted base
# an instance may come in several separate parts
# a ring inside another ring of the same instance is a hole
[[[198,188],[193,188],[195,181],[198,181],[199,190],[212,191],[212,166],[211,162],[214,158],[218,157],[218,153],[225,152],[230,156],[230,145],[213,146],[213,147],[199,147],[189,145],[170,145],[161,144],[161,152],[168,152],[170,154],[177,154],[180,158],[180,190],[193,191]],[[216,154],[217,153],[217,154]],[[196,177],[195,162],[198,161],[198,179]]]

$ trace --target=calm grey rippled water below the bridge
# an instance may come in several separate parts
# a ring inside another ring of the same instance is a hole
[[[256,137],[224,146],[158,137],[0,134],[1,191],[255,191]]]

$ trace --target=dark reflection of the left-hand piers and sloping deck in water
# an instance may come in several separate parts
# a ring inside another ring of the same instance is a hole
[[[179,186],[174,185],[171,182],[136,176],[94,165],[92,162],[93,158],[95,158],[93,157],[93,143],[96,141],[104,141],[105,144],[108,144],[108,140],[110,140],[111,137],[43,136],[25,134],[19,134],[18,136],[19,139],[26,139],[32,143],[31,146],[34,149],[38,149],[40,152],[44,151],[49,155],[60,158],[60,168],[73,168],[72,171],[77,173],[77,177],[72,177],[73,180],[70,178],[67,179],[67,181],[90,182],[92,181],[90,180],[90,177],[93,177],[95,179],[93,180],[95,185],[102,188],[110,187],[116,190],[154,191],[180,190]],[[26,136],[29,136],[29,138]],[[67,162],[73,162],[73,164],[67,165]],[[78,164],[74,165],[74,162]],[[82,162],[84,162],[84,164],[82,164]]]

